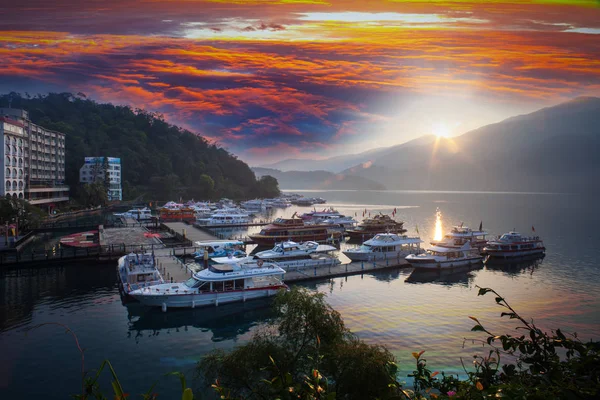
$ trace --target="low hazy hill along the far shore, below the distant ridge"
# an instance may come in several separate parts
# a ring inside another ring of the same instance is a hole
[[[328,171],[279,171],[271,168],[252,168],[256,176],[270,175],[279,186],[288,190],[385,190],[385,185],[371,179]]]

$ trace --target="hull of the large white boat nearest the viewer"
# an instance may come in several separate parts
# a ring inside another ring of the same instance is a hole
[[[287,289],[285,285],[269,286],[264,288],[233,290],[229,292],[206,292],[194,294],[170,294],[152,295],[151,290],[146,294],[132,294],[140,303],[150,307],[195,308],[206,306],[218,306],[219,304],[235,303],[277,294],[281,289]]]

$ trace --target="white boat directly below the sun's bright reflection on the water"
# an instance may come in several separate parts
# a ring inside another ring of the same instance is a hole
[[[456,268],[478,264],[483,257],[478,249],[466,242],[462,247],[432,246],[422,254],[409,254],[405,260],[414,268],[439,269]]]

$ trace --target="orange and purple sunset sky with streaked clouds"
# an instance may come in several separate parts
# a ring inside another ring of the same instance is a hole
[[[251,165],[600,96],[598,0],[21,0],[0,93],[160,112]]]

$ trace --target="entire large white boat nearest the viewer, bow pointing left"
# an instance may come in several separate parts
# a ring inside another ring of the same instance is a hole
[[[132,291],[142,304],[162,307],[200,307],[275,295],[287,289],[285,271],[273,263],[214,264],[185,282],[166,283]]]

